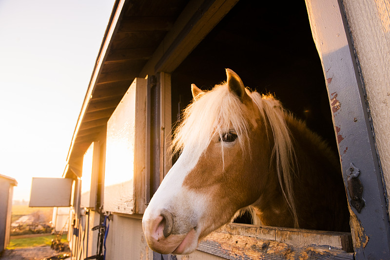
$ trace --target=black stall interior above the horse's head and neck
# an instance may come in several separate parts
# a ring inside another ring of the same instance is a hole
[[[226,80],[225,68],[245,86],[273,93],[337,152],[321,61],[304,1],[283,5],[241,0],[172,74],[172,121],[202,90]]]

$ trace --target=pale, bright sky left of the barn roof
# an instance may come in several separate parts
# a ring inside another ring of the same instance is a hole
[[[0,174],[61,178],[114,0],[0,0]]]

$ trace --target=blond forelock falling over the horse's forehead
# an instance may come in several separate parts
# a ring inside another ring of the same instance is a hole
[[[179,152],[186,146],[202,153],[215,135],[222,135],[229,130],[235,130],[240,136],[238,142],[244,149],[248,139],[249,123],[244,105],[230,93],[226,83],[217,85],[211,91],[201,93],[184,110],[183,118],[177,126],[172,147]]]

